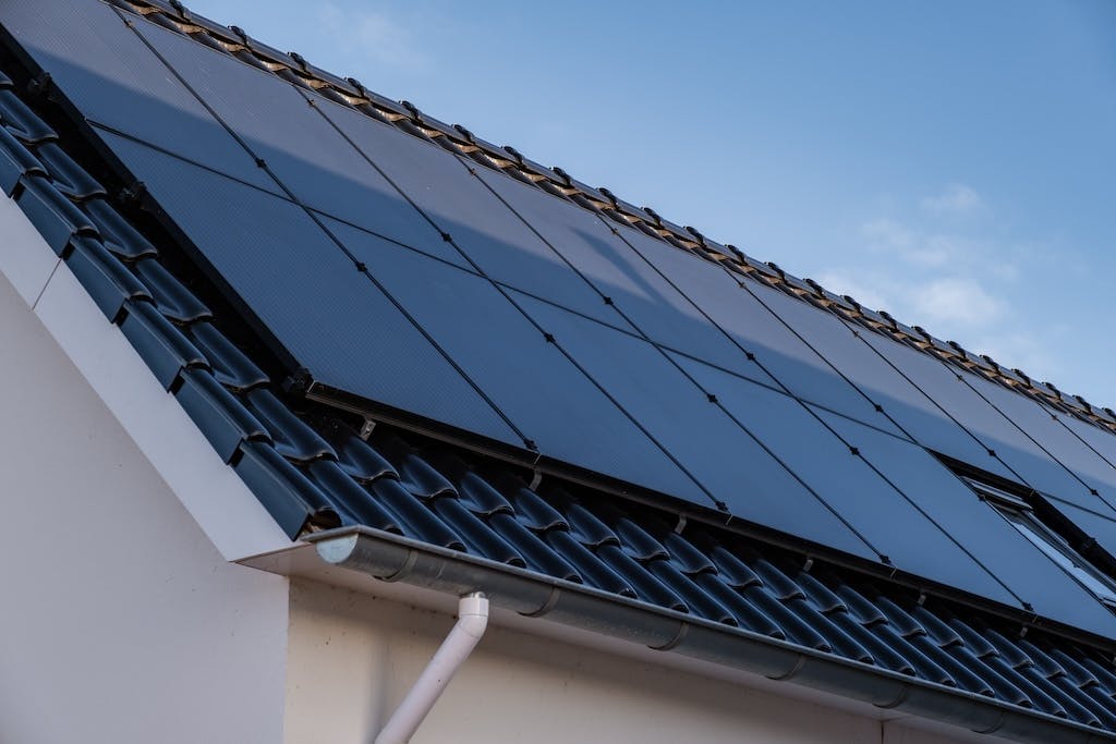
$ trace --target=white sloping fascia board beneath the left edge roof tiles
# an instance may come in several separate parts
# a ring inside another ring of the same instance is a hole
[[[124,334],[0,193],[0,273],[228,561],[296,547],[155,379]]]

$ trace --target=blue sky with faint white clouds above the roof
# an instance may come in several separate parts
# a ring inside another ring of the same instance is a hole
[[[186,4],[1116,407],[1116,2]]]

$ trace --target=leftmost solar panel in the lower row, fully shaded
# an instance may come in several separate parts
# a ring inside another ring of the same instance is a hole
[[[414,325],[304,210],[131,139],[102,136],[316,380],[521,445]],[[350,322],[338,322],[349,318]]]

